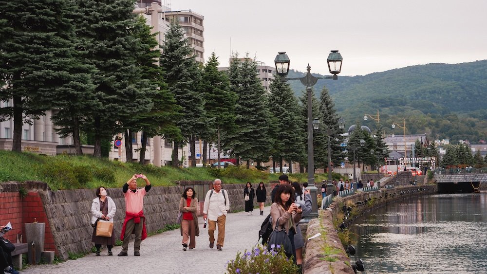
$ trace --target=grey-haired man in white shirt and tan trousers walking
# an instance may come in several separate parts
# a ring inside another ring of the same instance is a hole
[[[230,210],[228,192],[226,192],[225,189],[222,189],[222,180],[215,179],[215,181],[213,181],[213,189],[206,192],[205,204],[203,206],[203,218],[208,219],[210,248],[213,248],[215,243],[214,233],[218,223],[216,249],[220,251],[222,250],[225,242],[225,221],[228,210]]]

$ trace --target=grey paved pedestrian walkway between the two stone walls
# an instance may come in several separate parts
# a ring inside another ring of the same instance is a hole
[[[250,250],[258,240],[262,221],[269,214],[270,206],[259,215],[245,212],[227,215],[225,226],[225,245],[223,251],[209,248],[208,229],[203,228],[203,217],[199,217],[200,236],[196,237],[196,248],[184,252],[181,245],[180,230],[167,231],[148,237],[142,241],[140,257],[133,256],[133,240],[129,244],[129,256],[116,256],[121,246],[113,247],[113,256],[107,256],[106,248],[101,256],[94,253],[76,260],[67,260],[57,265],[31,265],[22,274],[67,274],[67,273],[151,273],[151,274],[219,274],[226,272],[226,262],[235,259],[238,251]],[[216,238],[216,232],[215,232]]]

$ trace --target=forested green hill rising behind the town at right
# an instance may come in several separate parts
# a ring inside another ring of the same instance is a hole
[[[346,64],[342,67],[345,71]],[[304,74],[290,71],[288,77]],[[299,81],[290,83],[300,96],[304,87]],[[325,85],[338,115],[345,118],[348,126],[358,122],[374,129],[375,121],[364,122],[362,117],[364,113],[376,115],[379,110],[386,133],[391,131],[392,122],[405,118],[407,134],[426,132],[433,138],[472,143],[487,140],[487,60],[454,65],[432,63],[318,80],[314,86],[316,95]]]

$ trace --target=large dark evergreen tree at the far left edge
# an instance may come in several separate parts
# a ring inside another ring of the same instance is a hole
[[[94,88],[87,76],[91,68],[77,60],[75,10],[72,0],[0,0],[0,82],[6,83],[0,85],[0,100],[13,99],[12,107],[0,109],[0,121],[14,120],[14,151],[21,151],[25,119],[44,115],[57,94],[65,95],[63,105],[66,96],[86,99],[83,92]],[[72,109],[74,118],[83,104]],[[79,141],[79,134],[73,137]]]

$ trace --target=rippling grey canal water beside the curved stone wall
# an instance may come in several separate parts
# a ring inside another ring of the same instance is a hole
[[[487,192],[438,194],[374,210],[351,226],[367,274],[487,274]]]

